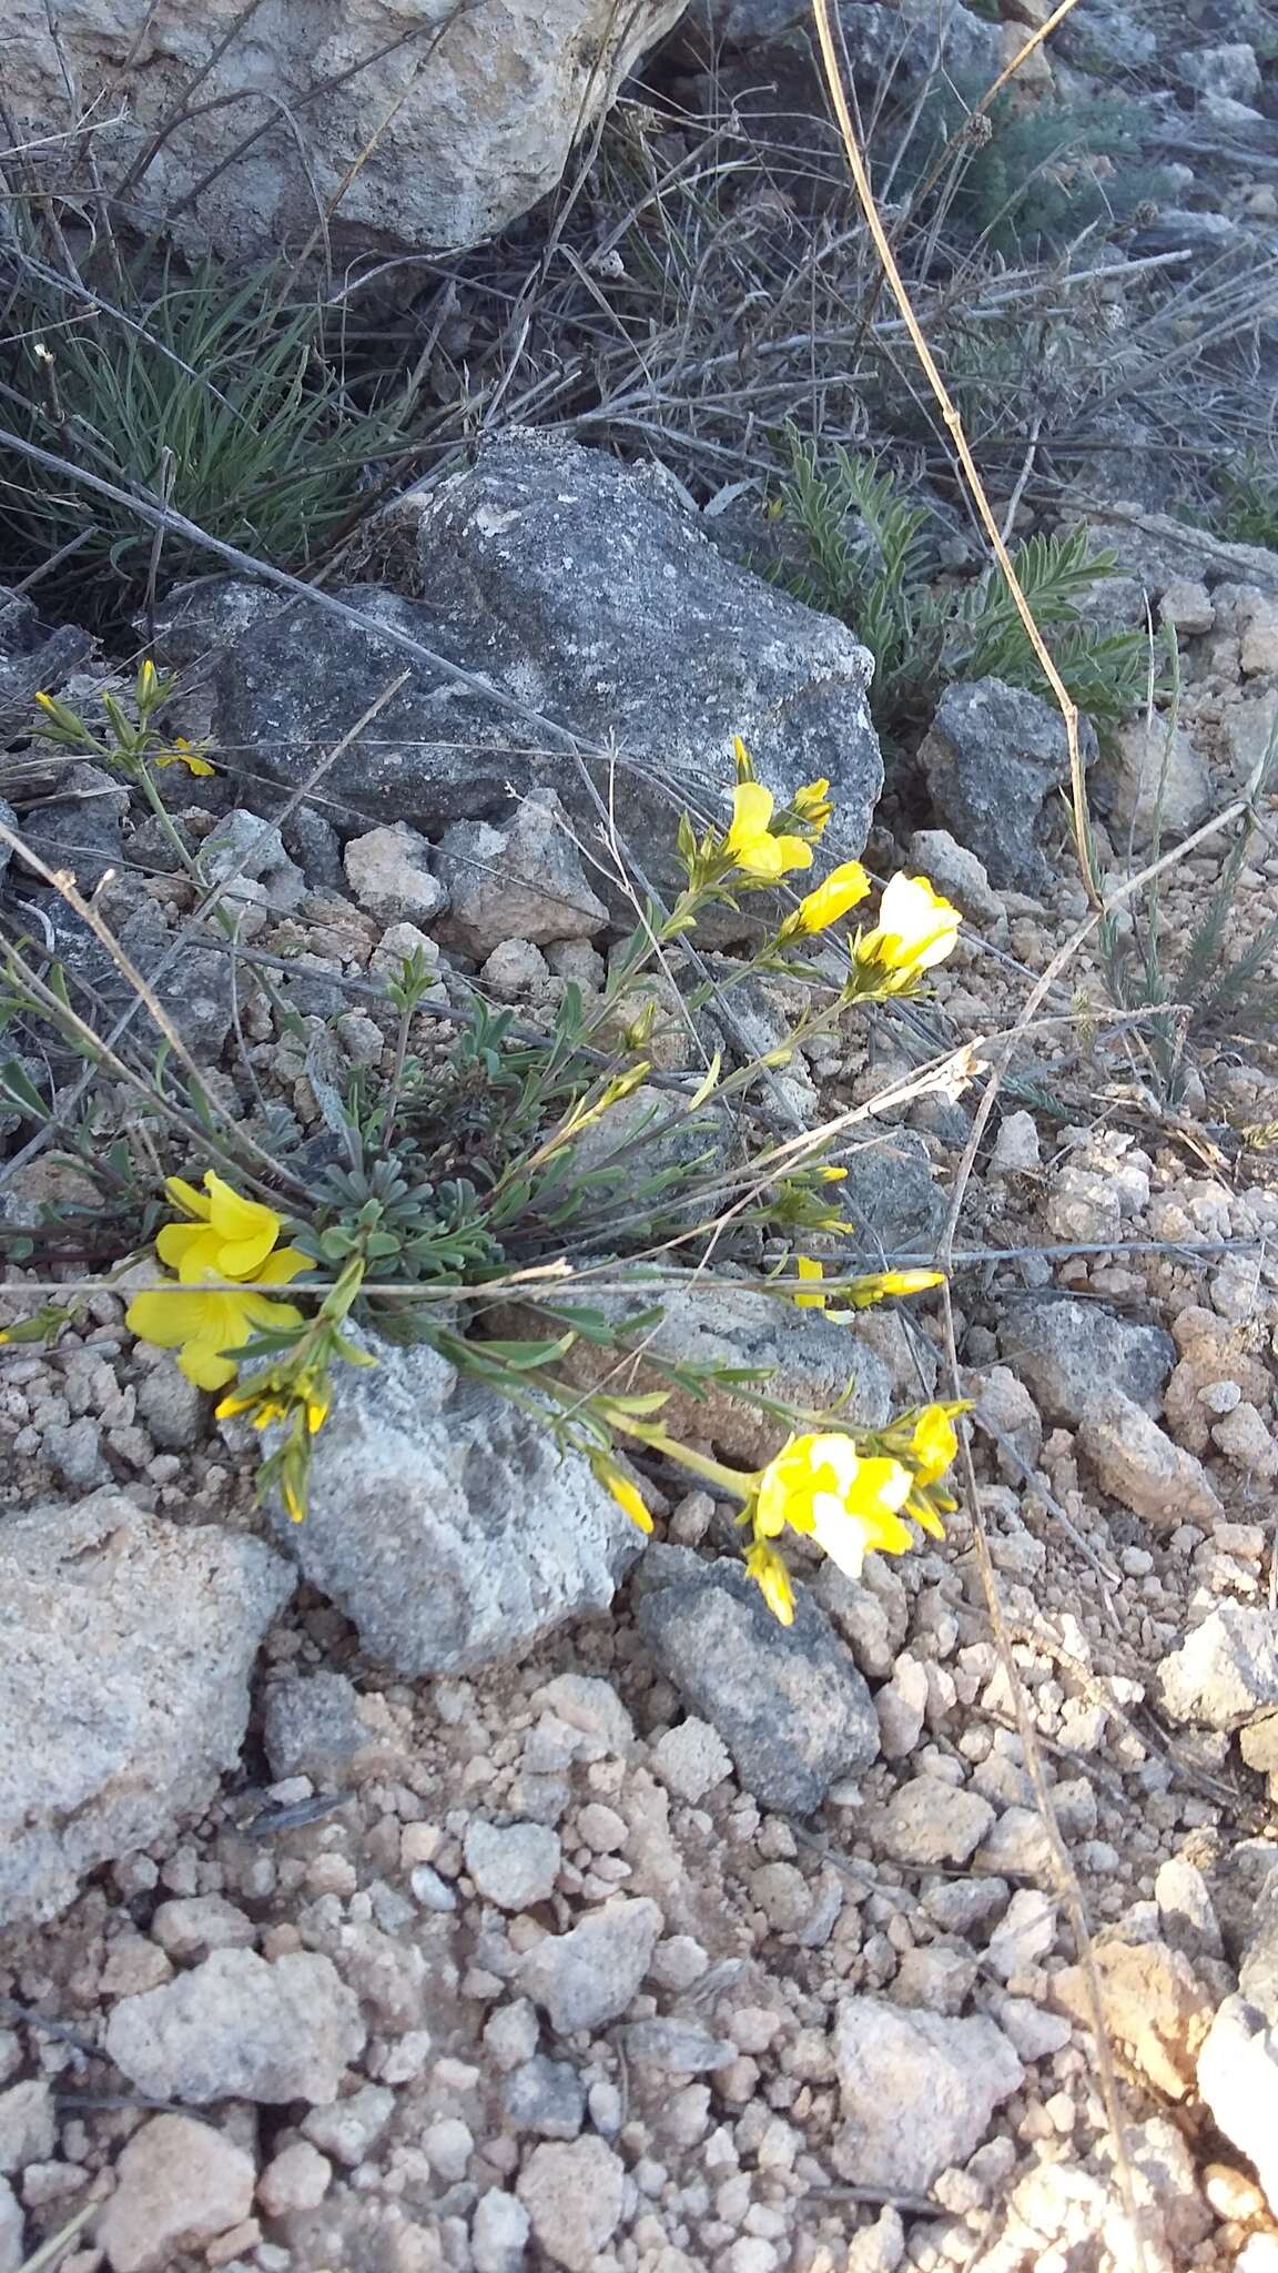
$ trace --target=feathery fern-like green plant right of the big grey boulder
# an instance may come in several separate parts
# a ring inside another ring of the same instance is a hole
[[[873,655],[871,709],[885,739],[907,734],[955,680],[1051,693],[1001,568],[973,584],[932,582],[930,514],[889,468],[850,450],[823,461],[816,443],[791,432],[780,509],[807,555],[794,589],[841,616]],[[1094,630],[1080,607],[1114,575],[1114,555],[1092,552],[1087,532],[1071,530],[1014,546],[1012,566],[1035,621],[1055,634],[1053,659],[1078,707],[1092,718],[1132,711],[1146,691],[1146,641]]]

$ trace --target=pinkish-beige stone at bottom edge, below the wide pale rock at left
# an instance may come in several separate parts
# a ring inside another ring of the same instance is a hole
[[[111,2273],[168,2273],[175,2257],[241,2225],[252,2209],[252,2155],[193,2116],[152,2116],[116,2159],[98,2221]]]

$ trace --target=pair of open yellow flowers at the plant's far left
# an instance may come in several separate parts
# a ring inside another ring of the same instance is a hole
[[[298,1248],[280,1246],[284,1218],[273,1207],[241,1198],[214,1168],[205,1191],[182,1175],[171,1175],[164,1189],[191,1218],[166,1223],[155,1239],[155,1252],[177,1282],[136,1293],[125,1325],[161,1350],[177,1350],[182,1373],[198,1389],[225,1389],[236,1375],[230,1350],[241,1350],[252,1334],[302,1325],[293,1302],[273,1302],[257,1289],[287,1287],[312,1264]]]

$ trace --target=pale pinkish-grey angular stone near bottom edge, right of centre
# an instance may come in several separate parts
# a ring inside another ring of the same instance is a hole
[[[835,2068],[846,2123],[839,2168],[891,2193],[923,2193],[966,2162],[1023,2078],[994,2021],[948,2021],[873,1996],[839,2009]]]

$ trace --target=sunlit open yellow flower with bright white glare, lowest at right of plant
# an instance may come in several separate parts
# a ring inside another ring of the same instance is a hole
[[[775,1539],[789,1523],[860,1577],[871,1548],[903,1555],[912,1546],[898,1516],[912,1482],[898,1459],[862,1459],[850,1437],[794,1437],[760,1477],[755,1534]]]

